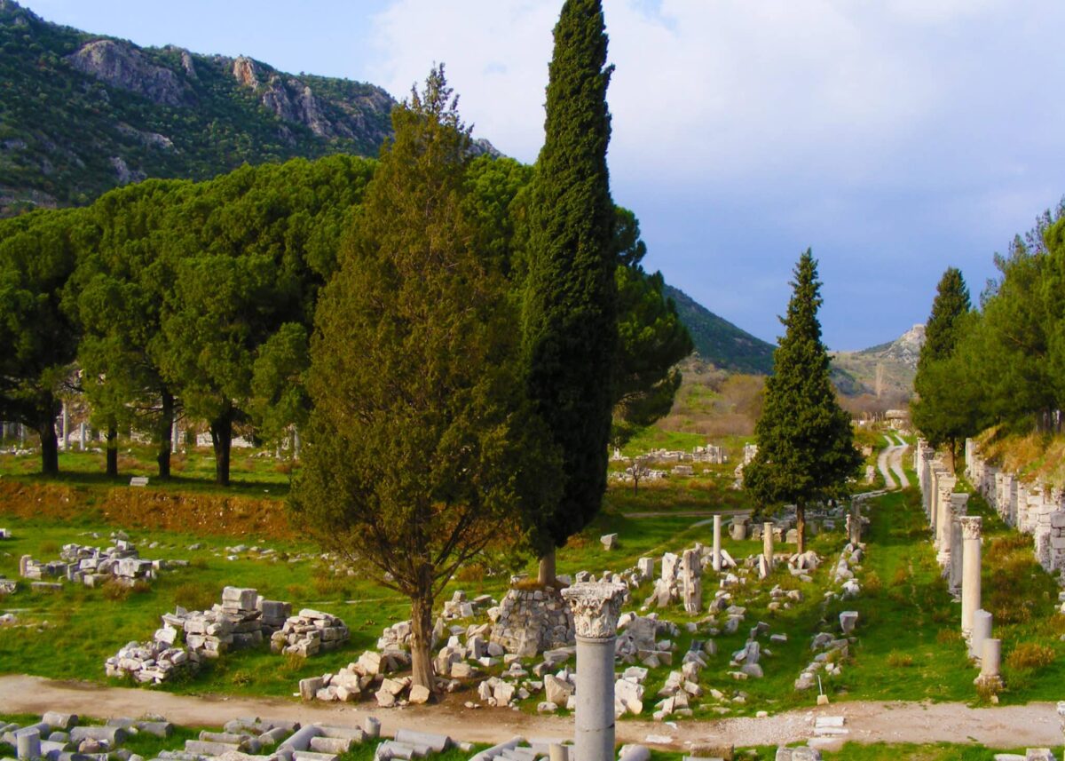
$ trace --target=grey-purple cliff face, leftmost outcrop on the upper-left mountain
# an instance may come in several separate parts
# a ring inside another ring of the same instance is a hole
[[[168,68],[155,66],[129,43],[97,39],[67,56],[82,74],[142,95],[161,106],[191,106],[196,98],[191,88]]]

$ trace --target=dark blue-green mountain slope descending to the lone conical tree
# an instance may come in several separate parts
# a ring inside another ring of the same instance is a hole
[[[695,351],[703,359],[736,372],[769,374],[773,371],[773,344],[718,317],[677,288],[666,286],[666,295],[676,303],[681,322],[688,328]]]

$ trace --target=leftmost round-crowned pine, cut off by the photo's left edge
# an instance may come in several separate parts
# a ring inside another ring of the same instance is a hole
[[[0,225],[0,418],[37,432],[47,475],[60,469],[59,393],[78,351],[63,289],[91,234],[81,210],[36,212]]]

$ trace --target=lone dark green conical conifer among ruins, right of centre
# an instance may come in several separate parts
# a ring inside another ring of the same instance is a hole
[[[836,401],[821,342],[821,284],[809,249],[799,258],[785,326],[766,378],[766,402],[754,433],[758,453],[743,468],[743,486],[759,504],[794,503],[798,551],[805,551],[806,505],[846,492],[862,465],[850,416]]]

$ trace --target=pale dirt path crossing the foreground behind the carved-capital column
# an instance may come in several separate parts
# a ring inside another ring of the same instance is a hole
[[[355,726],[371,713],[366,708],[335,703],[300,703],[280,698],[171,695],[85,682],[59,682],[39,677],[0,677],[0,711],[35,713],[64,711],[81,715],[140,716],[159,713],[176,724],[217,727],[237,716],[328,722]],[[569,738],[573,722],[558,716],[530,716],[507,709],[469,710],[455,698],[441,706],[408,707],[373,712],[386,734],[399,727],[450,734],[457,740],[502,742],[524,738]],[[619,742],[642,742],[688,749],[715,741],[738,746],[802,742],[813,734],[818,715],[846,716],[848,740],[873,742],[976,742],[987,747],[1056,745],[1062,742],[1053,703],[973,709],[963,703],[854,701],[818,709],[789,711],[768,718],[684,722],[619,722]],[[660,742],[648,740],[658,735]],[[669,738],[669,742],[666,742]]]

